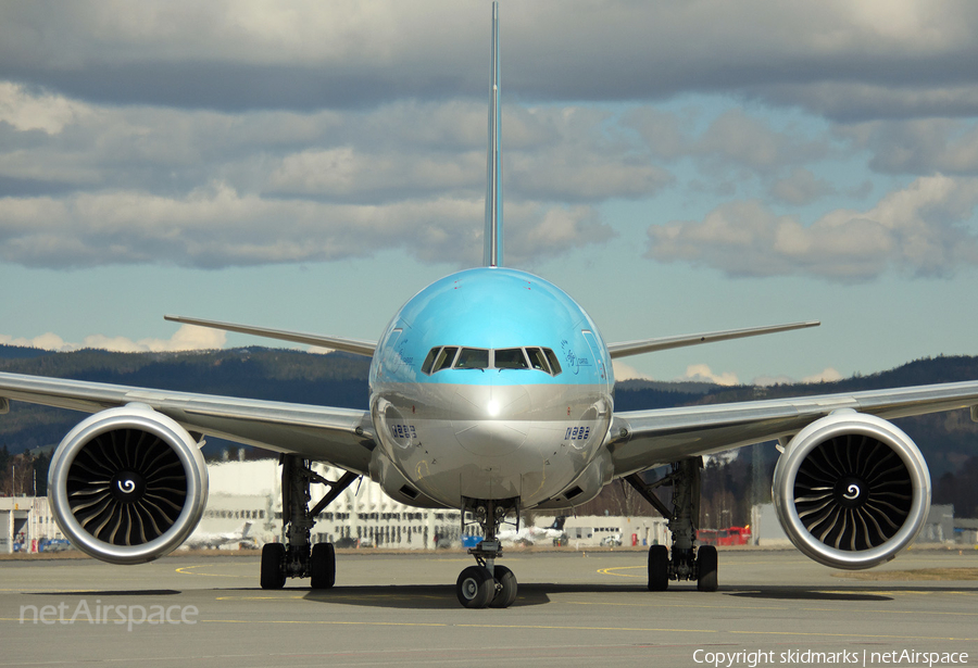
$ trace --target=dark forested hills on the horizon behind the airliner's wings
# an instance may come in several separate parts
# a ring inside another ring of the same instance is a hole
[[[366,408],[369,361],[266,348],[185,353],[50,353],[0,345],[0,370],[117,385],[206,392],[349,408]],[[634,411],[698,403],[852,392],[978,379],[978,357],[936,357],[838,382],[724,388],[706,383],[629,380],[618,385],[615,408]],[[0,416],[0,444],[11,453],[61,441],[79,414],[14,403]],[[958,469],[978,449],[978,425],[966,412],[907,418],[898,424],[927,456],[935,478]]]

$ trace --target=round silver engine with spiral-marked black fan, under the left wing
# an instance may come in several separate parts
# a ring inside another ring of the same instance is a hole
[[[206,464],[176,421],[129,404],[96,413],[64,437],[51,457],[48,499],[73,545],[103,562],[141,564],[197,527]]]

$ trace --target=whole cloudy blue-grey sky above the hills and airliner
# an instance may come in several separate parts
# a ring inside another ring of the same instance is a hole
[[[481,260],[488,1],[0,3],[0,343],[376,340]],[[978,4],[500,7],[505,264],[618,378],[978,354]]]

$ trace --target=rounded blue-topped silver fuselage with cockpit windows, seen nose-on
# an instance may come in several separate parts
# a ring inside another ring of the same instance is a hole
[[[607,349],[587,313],[537,276],[487,267],[431,283],[391,319],[369,380],[372,475],[402,501],[563,507],[610,479]]]

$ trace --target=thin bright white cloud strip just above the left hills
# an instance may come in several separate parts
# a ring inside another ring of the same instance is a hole
[[[227,337],[216,329],[181,325],[170,339],[140,339],[133,341],[125,337],[90,335],[80,343],[67,343],[58,335],[48,332],[33,339],[13,338],[0,335],[0,344],[38,348],[57,352],[70,352],[86,348],[108,350],[117,353],[178,352],[189,350],[215,350],[223,348]]]

